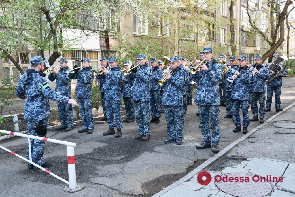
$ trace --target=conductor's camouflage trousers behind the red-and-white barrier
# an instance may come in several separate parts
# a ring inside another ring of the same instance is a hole
[[[38,121],[27,121],[26,120],[26,130],[28,135],[34,135],[39,137],[46,137],[45,135],[38,135],[36,133],[35,124],[38,124]],[[49,124],[49,117],[43,119],[43,125],[45,128],[47,128]],[[30,139],[31,141],[31,154],[32,154],[32,162],[36,163],[37,165],[43,165],[44,164],[44,147],[45,147],[45,141],[38,140],[38,139]],[[26,158],[30,160],[29,156],[29,144],[27,144],[27,156]],[[30,164],[28,162],[28,164]]]

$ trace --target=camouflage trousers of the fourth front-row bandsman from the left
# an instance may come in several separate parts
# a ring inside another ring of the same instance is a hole
[[[150,102],[134,101],[134,109],[139,134],[150,135]]]

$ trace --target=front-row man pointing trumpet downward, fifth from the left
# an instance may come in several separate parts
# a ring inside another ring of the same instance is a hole
[[[181,145],[183,139],[183,86],[185,71],[179,66],[178,58],[171,57],[169,65],[173,70],[171,75],[167,76],[165,82],[165,91],[163,94],[163,108],[167,123],[167,132],[169,138],[165,143],[176,142]],[[164,73],[164,75],[167,72]]]

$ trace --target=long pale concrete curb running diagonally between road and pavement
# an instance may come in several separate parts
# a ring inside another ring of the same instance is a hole
[[[166,192],[168,192],[169,190],[171,190],[172,188],[175,188],[176,186],[180,185],[181,183],[190,180],[195,174],[199,173],[201,170],[203,170],[203,168],[206,168],[207,166],[209,166],[210,164],[212,164],[213,162],[215,162],[218,158],[222,157],[223,155],[225,155],[228,151],[230,151],[233,147],[235,147],[238,143],[244,141],[246,138],[248,138],[250,135],[252,135],[253,133],[255,133],[258,129],[266,126],[271,120],[273,120],[276,116],[280,115],[281,113],[283,113],[284,111],[286,111],[287,109],[291,108],[292,106],[295,105],[295,102],[292,103],[291,105],[287,106],[286,108],[283,109],[283,111],[280,111],[278,113],[276,113],[275,115],[271,116],[269,119],[267,119],[263,124],[260,124],[259,126],[255,127],[254,129],[250,130],[247,134],[244,134],[242,137],[240,137],[239,139],[235,140],[234,142],[232,142],[230,145],[228,145],[227,147],[225,147],[224,149],[222,149],[220,152],[218,152],[217,154],[215,154],[214,156],[210,157],[209,159],[207,159],[205,162],[203,162],[201,165],[199,165],[197,168],[195,168],[194,170],[192,170],[190,173],[188,173],[187,175],[185,175],[183,178],[181,178],[180,180],[172,183],[171,185],[169,185],[168,187],[164,188],[163,190],[159,191],[158,193],[154,194],[152,197],[160,197],[162,195],[164,195]]]

